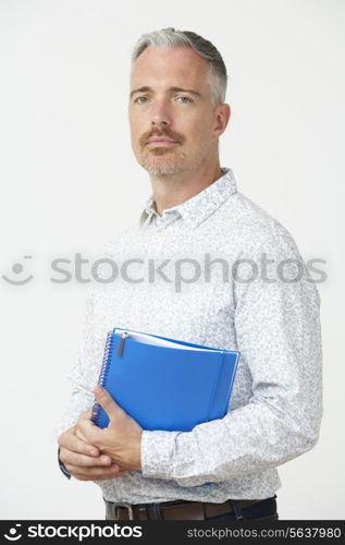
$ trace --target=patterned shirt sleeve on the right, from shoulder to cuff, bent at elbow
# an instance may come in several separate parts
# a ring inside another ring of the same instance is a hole
[[[272,235],[244,257],[259,271],[252,281],[232,282],[238,365],[250,372],[251,396],[192,432],[144,431],[145,477],[180,486],[227,481],[281,465],[318,440],[322,350],[316,284],[291,237]]]

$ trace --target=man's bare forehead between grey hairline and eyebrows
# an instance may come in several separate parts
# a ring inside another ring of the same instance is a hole
[[[131,88],[175,86],[207,93],[208,75],[208,61],[190,47],[148,47],[133,65]]]

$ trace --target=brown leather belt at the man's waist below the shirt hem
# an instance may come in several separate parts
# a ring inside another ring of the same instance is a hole
[[[237,499],[241,509],[252,506],[261,499]],[[234,511],[233,500],[223,504],[201,501],[165,501],[162,504],[120,504],[104,499],[107,520],[206,520]]]

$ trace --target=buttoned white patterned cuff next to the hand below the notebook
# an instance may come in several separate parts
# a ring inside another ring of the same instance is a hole
[[[173,479],[175,438],[178,433],[144,429],[140,455],[143,476]]]

